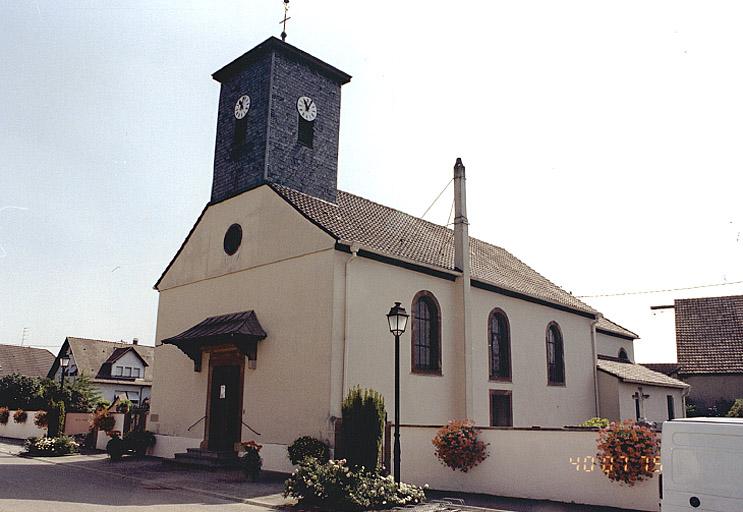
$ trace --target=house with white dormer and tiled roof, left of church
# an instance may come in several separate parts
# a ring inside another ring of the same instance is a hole
[[[139,405],[150,396],[154,347],[140,345],[136,338],[125,343],[68,337],[48,370],[48,377],[61,378],[62,356],[70,358],[66,379],[87,375],[108,401],[120,397]]]

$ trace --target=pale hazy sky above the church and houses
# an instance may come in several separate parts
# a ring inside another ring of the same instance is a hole
[[[420,216],[461,157],[470,234],[613,295],[584,300],[640,362],[676,357],[650,306],[743,293],[739,2],[290,6],[287,42],[353,76],[340,189]],[[211,73],[279,36],[283,2],[0,9],[0,343],[154,344],[153,285],[209,200]]]

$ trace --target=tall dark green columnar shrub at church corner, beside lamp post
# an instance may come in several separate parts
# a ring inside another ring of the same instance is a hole
[[[348,465],[376,471],[384,434],[384,398],[373,389],[351,389],[343,401],[342,448]]]

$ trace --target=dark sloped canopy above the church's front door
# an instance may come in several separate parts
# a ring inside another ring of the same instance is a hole
[[[162,340],[164,345],[175,345],[193,360],[194,371],[201,371],[201,354],[205,348],[217,345],[234,345],[240,352],[255,361],[258,341],[266,331],[258,323],[253,310],[227,315],[210,316],[177,336]]]

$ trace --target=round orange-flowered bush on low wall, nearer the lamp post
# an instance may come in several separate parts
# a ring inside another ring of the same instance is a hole
[[[453,471],[466,473],[488,457],[488,445],[478,439],[478,434],[469,420],[450,421],[433,438],[436,457]]]

